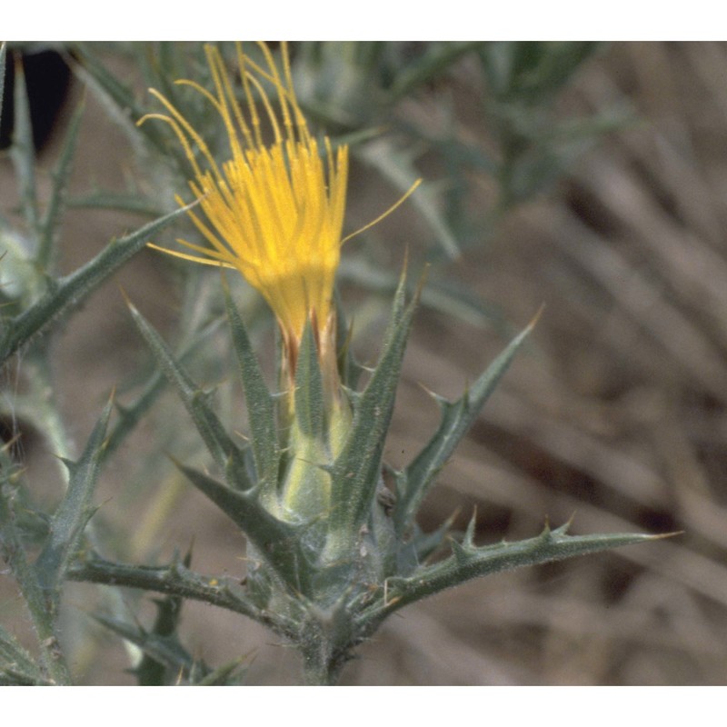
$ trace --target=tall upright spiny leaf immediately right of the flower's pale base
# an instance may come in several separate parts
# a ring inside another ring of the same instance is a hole
[[[354,420],[332,472],[331,523],[336,549],[348,553],[366,522],[381,476],[383,444],[393,413],[396,387],[417,297],[404,307],[402,275],[383,354],[364,392],[355,402]],[[340,553],[341,555],[343,553]]]

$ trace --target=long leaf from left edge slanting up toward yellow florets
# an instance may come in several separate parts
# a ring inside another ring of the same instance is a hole
[[[182,207],[165,214],[164,217],[140,227],[136,232],[112,241],[93,260],[75,272],[54,281],[46,294],[22,314],[5,321],[4,330],[0,334],[0,365],[35,334],[43,331],[55,318],[65,314],[75,305],[81,304],[98,285],[138,253],[150,237],[180,214],[184,214],[187,209],[189,208]]]

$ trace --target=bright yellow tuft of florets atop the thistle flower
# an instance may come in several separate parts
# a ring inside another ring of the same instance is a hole
[[[213,46],[204,50],[214,93],[194,81],[177,81],[202,94],[220,115],[231,154],[224,164],[215,162],[200,134],[154,89],[151,93],[168,114],[145,115],[139,123],[158,118],[172,126],[192,165],[189,187],[206,218],[189,213],[205,246],[178,240],[191,252],[165,252],[239,270],[273,309],[294,365],[306,320],[314,324],[319,344],[329,325],[344,224],[348,147],[339,146],[334,153],[324,137],[322,157],[295,98],[287,46],[282,46],[281,72],[267,45],[258,45],[264,65],[237,48],[242,105]],[[264,85],[272,85],[276,105]],[[263,124],[270,127],[270,144],[264,143]],[[181,198],[177,201],[184,204]]]

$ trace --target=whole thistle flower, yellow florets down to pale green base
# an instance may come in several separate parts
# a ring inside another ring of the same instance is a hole
[[[182,144],[194,173],[189,188],[198,203],[188,214],[204,239],[204,244],[177,240],[182,251],[157,249],[194,263],[238,270],[264,296],[278,320],[286,374],[281,383],[287,393],[278,423],[287,463],[283,483],[266,491],[265,503],[282,519],[311,520],[330,507],[331,476],[326,468],[340,453],[353,415],[341,395],[335,344],[334,277],[341,245],[391,213],[419,182],[373,222],[342,238],[348,147],[342,144],[334,150],[327,136],[319,144],[308,130],[295,96],[287,45],[281,47],[282,68],[267,45],[258,45],[260,63],[237,45],[242,102],[222,55],[212,45],[204,48],[212,89],[190,80],[176,82],[193,88],[219,115],[229,144],[227,161],[215,160],[202,135],[154,89],[151,93],[166,113],[145,115],[139,124],[161,119]],[[180,196],[177,202],[185,204]],[[314,376],[304,380],[303,370],[296,372],[308,322],[318,353],[320,384]],[[311,429],[305,411],[297,411],[296,404],[296,393],[308,387],[314,391],[316,385],[322,388],[324,403],[320,430]]]

